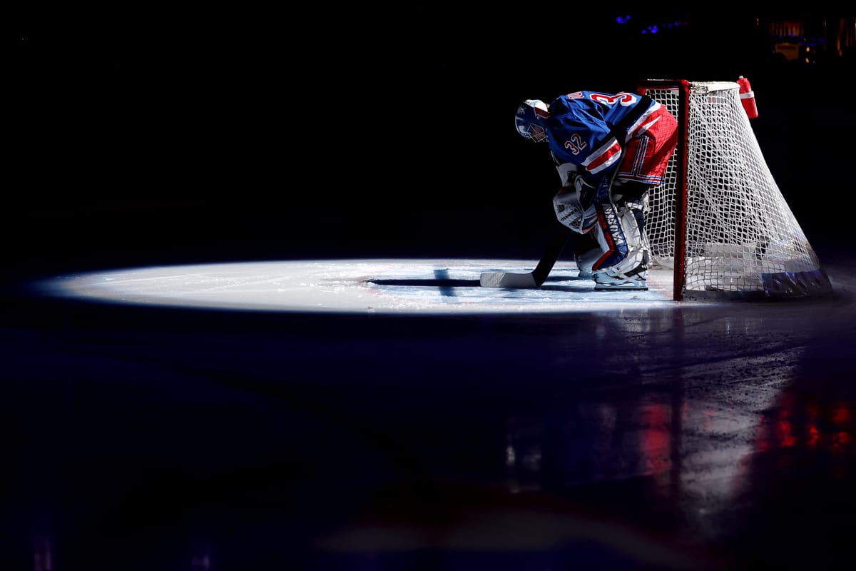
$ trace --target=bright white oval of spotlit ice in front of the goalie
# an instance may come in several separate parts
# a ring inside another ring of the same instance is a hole
[[[285,312],[580,312],[663,306],[670,271],[651,271],[644,292],[594,291],[573,262],[559,263],[540,288],[482,288],[483,271],[532,271],[521,259],[275,260],[150,266],[60,276],[45,293],[158,306]]]

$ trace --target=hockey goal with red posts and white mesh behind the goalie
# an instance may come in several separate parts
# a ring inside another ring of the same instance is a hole
[[[764,160],[736,82],[647,80],[680,137],[645,219],[651,270],[675,300],[828,294],[829,277]]]

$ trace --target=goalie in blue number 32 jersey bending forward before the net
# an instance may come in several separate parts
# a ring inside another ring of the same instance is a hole
[[[515,123],[547,141],[562,180],[559,222],[586,241],[575,259],[595,289],[647,289],[648,194],[663,183],[677,144],[677,120],[657,101],[629,92],[580,91],[550,104],[526,99]]]

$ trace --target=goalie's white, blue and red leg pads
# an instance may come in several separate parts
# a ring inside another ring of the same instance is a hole
[[[638,198],[627,197],[617,203],[597,205],[597,224],[588,233],[591,244],[578,250],[580,272],[597,272],[613,268],[622,273],[647,265],[650,259],[645,236],[645,213],[648,193]]]

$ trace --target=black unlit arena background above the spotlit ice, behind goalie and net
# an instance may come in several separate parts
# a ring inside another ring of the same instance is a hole
[[[9,268],[357,255],[538,257],[555,224],[523,98],[736,80],[810,240],[846,192],[851,57],[782,64],[750,9],[150,4],[9,30]],[[800,17],[823,19],[820,9]],[[640,30],[659,26],[660,33]]]

